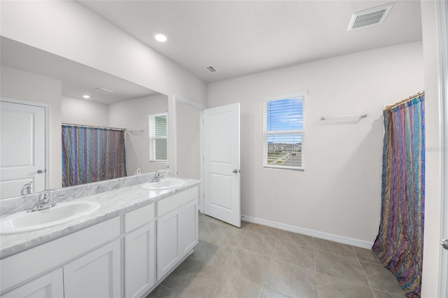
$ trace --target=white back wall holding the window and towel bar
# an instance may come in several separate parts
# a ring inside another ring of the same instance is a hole
[[[370,246],[381,206],[382,110],[423,89],[421,43],[211,83],[209,107],[241,103],[241,213]],[[263,97],[300,90],[308,90],[305,171],[263,169]],[[360,112],[368,117],[319,120]]]

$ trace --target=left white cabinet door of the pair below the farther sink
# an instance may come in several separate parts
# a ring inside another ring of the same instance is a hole
[[[160,216],[157,222],[157,278],[160,279],[179,262],[180,208]]]

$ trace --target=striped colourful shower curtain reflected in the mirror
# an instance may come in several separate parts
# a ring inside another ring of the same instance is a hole
[[[124,130],[62,125],[62,186],[124,176]]]

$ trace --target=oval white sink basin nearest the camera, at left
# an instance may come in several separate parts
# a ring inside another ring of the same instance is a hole
[[[60,225],[97,211],[98,208],[99,203],[94,201],[69,201],[41,211],[20,211],[1,218],[0,234],[29,232]]]

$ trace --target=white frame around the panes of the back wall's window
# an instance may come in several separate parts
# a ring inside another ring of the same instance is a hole
[[[263,118],[263,127],[262,127],[262,165],[263,169],[279,169],[279,170],[292,170],[292,171],[304,171],[305,169],[305,161],[304,161],[304,151],[305,151],[305,101],[306,101],[307,92],[297,92],[293,94],[280,95],[276,97],[265,97],[262,101],[262,118]],[[268,131],[267,130],[267,103],[269,101],[279,101],[284,99],[302,99],[302,129],[288,129],[288,130],[276,130],[276,131]],[[269,152],[269,143],[268,138],[270,135],[286,135],[286,134],[300,134],[301,136],[301,166],[285,166],[285,165],[274,165],[268,164],[268,152]]]

